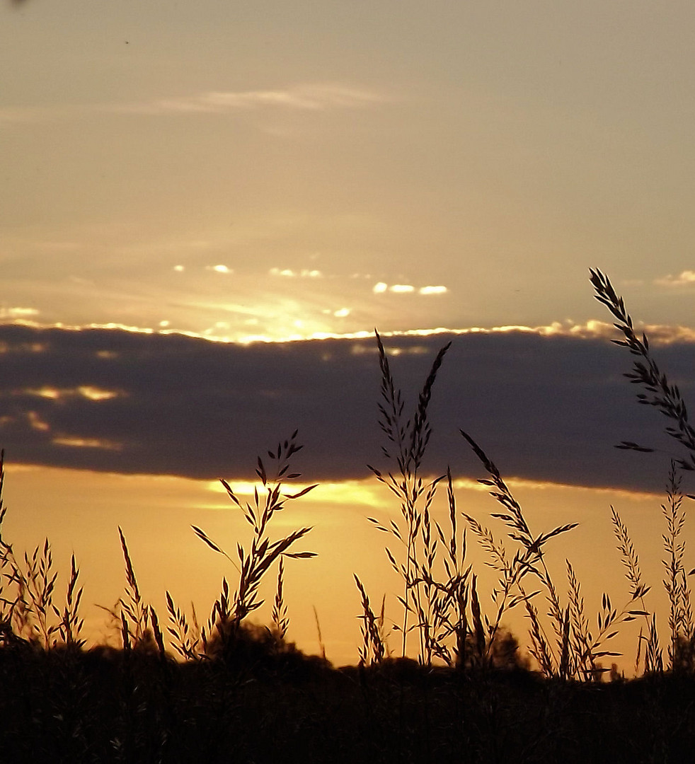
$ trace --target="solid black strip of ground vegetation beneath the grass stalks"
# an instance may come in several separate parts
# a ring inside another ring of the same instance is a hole
[[[692,760],[690,676],[586,684],[403,659],[332,669],[287,649],[249,658],[5,648],[2,761]]]

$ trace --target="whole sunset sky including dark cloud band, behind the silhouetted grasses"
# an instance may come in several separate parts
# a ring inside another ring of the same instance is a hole
[[[640,0],[0,5],[8,528],[27,545],[50,531],[93,560],[88,581],[118,569],[128,525],[161,597],[155,568],[178,552],[220,562],[189,528],[219,522],[215,479],[248,487],[255,455],[299,429],[302,480],[320,488],[297,523],[310,516],[334,563],[360,543],[342,572],[297,561],[295,608],[330,613],[347,661],[356,613],[311,587],[357,608],[352,571],[387,580],[380,539],[358,530],[398,511],[366,468],[381,458],[377,328],[409,406],[452,341],[432,474],[449,465],[490,507],[463,428],[532,503],[586,515],[594,544],[619,499],[656,539],[658,584],[674,445],[635,405],[588,269],[688,400],[693,28],[692,4]],[[619,587],[617,554],[614,569]],[[296,627],[315,643],[313,613]]]

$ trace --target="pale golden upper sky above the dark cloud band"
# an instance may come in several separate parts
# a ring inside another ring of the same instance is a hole
[[[6,311],[232,339],[583,323],[598,265],[689,322],[690,3],[0,14]]]

